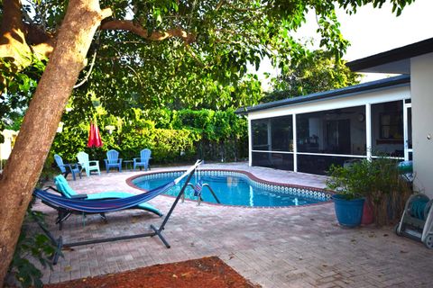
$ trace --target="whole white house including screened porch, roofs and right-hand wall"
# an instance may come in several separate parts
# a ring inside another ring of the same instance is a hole
[[[415,184],[433,196],[433,39],[347,66],[401,76],[247,107],[250,166],[324,175],[386,154],[413,159]]]

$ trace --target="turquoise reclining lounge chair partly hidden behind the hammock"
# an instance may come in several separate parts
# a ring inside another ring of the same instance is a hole
[[[68,181],[63,177],[63,175],[57,175],[54,177],[54,184],[56,184],[56,191],[61,193],[64,197],[69,199],[83,199],[88,201],[97,201],[97,200],[108,200],[108,199],[123,199],[128,198],[131,196],[134,196],[133,193],[126,193],[126,192],[117,192],[117,191],[108,191],[108,192],[101,192],[101,193],[89,193],[89,194],[80,194],[74,191],[69,184]],[[131,209],[141,209],[145,211],[150,211],[152,213],[155,213],[158,216],[162,216],[163,214],[161,211],[153,207],[149,203],[140,203],[137,204]],[[60,222],[61,223],[61,222]]]

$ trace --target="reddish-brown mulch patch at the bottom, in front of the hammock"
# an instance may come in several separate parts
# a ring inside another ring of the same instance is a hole
[[[146,287],[146,288],[259,288],[251,284],[218,257],[138,268],[122,273],[100,275],[44,285],[47,288]]]

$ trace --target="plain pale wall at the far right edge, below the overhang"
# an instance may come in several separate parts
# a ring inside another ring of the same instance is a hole
[[[415,186],[431,198],[433,197],[433,53],[410,59],[410,81]]]

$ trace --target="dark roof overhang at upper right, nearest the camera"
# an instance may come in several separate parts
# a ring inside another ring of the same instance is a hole
[[[356,72],[410,74],[410,58],[433,52],[433,38],[392,49],[345,65]]]

